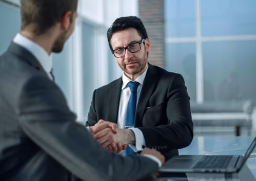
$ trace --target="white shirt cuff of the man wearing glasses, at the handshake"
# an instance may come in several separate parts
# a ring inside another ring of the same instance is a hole
[[[145,138],[139,128],[130,128],[135,135],[135,145],[129,145],[133,152],[139,152],[146,147]]]

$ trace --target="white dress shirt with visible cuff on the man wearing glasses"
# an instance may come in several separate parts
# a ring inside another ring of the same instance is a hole
[[[140,94],[141,94],[141,87],[143,85],[143,81],[145,79],[147,69],[148,69],[148,65],[146,65],[146,66],[147,66],[146,70],[137,79],[134,80],[135,82],[140,83],[138,86],[138,89],[137,89],[137,104],[138,104],[138,100],[139,100]],[[131,80],[125,76],[124,72],[123,72],[122,80],[123,80],[123,85],[122,85],[121,96],[120,96],[120,101],[119,101],[117,125],[119,128],[123,129],[123,128],[125,128],[127,105],[128,105],[128,101],[129,101],[129,98],[131,95],[131,90],[128,86],[128,83]],[[135,134],[135,145],[130,145],[131,148],[133,149],[134,152],[143,150],[143,148],[146,147],[145,138],[144,138],[143,133],[138,128],[130,128],[130,129]]]

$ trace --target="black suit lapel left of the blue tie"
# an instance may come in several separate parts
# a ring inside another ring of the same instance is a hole
[[[119,78],[109,93],[108,120],[117,123],[122,77]]]

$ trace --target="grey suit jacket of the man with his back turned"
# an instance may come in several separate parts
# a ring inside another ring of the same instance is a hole
[[[135,180],[156,171],[146,157],[111,154],[75,122],[59,87],[16,43],[0,57],[0,180]]]

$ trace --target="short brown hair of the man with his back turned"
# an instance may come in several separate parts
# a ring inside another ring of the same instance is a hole
[[[67,11],[77,10],[78,0],[21,0],[21,29],[45,33]]]

